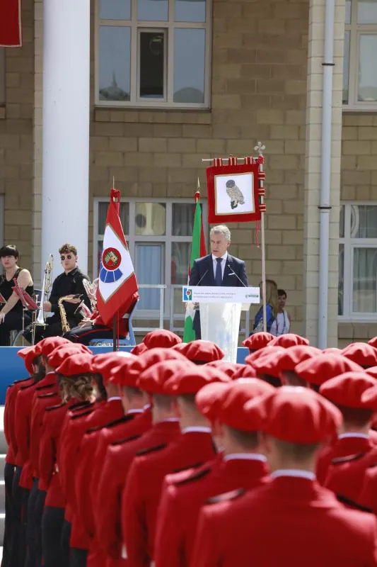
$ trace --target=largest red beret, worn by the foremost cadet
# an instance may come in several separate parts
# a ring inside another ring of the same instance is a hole
[[[296,444],[316,444],[337,434],[342,414],[331,402],[309,388],[282,386],[245,404],[246,412],[261,412],[261,429]]]

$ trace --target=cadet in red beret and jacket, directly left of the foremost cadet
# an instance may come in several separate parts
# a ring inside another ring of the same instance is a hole
[[[246,417],[243,408],[246,401],[273,391],[273,387],[258,378],[234,381],[225,388],[223,383],[209,384],[197,393],[199,409],[201,394],[207,398],[207,388],[216,399],[209,408],[212,419],[221,423],[223,453],[183,478],[182,473],[166,476],[157,515],[156,567],[190,565],[197,518],[207,498],[240,486],[250,490],[267,478],[267,458],[255,428],[259,421],[255,426],[253,416]],[[201,411],[208,417],[208,400]]]

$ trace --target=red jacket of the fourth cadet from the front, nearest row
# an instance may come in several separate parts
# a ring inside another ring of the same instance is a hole
[[[149,447],[166,447],[179,437],[178,421],[164,421],[153,425],[138,439],[115,443],[108,448],[98,485],[95,519],[100,548],[111,558],[119,560],[122,554],[120,505],[134,456]]]

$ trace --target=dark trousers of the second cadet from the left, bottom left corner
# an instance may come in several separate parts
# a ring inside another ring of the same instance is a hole
[[[22,466],[16,466],[12,487],[13,536],[11,567],[24,567],[26,555],[26,522],[30,490],[20,486]]]

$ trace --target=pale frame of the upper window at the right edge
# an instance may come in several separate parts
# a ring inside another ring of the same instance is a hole
[[[360,64],[359,38],[361,35],[376,35],[377,37],[377,23],[357,23],[357,9],[358,0],[351,0],[350,23],[344,23],[344,38],[345,34],[349,32],[349,77],[348,103],[343,103],[343,111],[371,112],[377,110],[377,101],[358,100]],[[344,52],[344,58],[345,57],[346,53]]]

